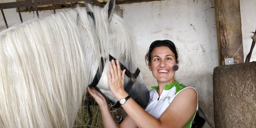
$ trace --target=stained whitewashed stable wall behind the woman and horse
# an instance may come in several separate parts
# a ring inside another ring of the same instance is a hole
[[[15,0],[0,0],[12,2]],[[180,68],[176,79],[198,92],[199,107],[214,125],[213,69],[218,66],[214,0],[164,0],[118,5],[124,20],[133,28],[139,47],[139,68],[148,87],[157,85],[144,61],[151,42],[170,39],[178,48]],[[249,53],[252,31],[256,28],[255,0],[240,1],[244,57]],[[60,10],[56,10],[58,12]],[[16,9],[4,10],[8,25],[20,23]],[[39,16],[53,14],[53,10],[40,11]],[[36,12],[22,12],[23,22],[37,18]],[[5,23],[0,14],[0,31]],[[256,61],[256,49],[251,61]],[[202,114],[199,112],[202,116]],[[209,128],[204,124],[204,128]]]

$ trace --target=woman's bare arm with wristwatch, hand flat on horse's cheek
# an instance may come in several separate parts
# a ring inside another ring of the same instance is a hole
[[[118,60],[117,64],[115,64],[113,60],[111,63],[112,64],[109,65],[110,71],[107,71],[108,84],[110,85],[113,95],[117,100],[120,100],[121,98],[128,96],[123,88],[125,70],[121,73]],[[197,93],[192,88],[181,91],[164,113],[162,113],[159,119],[156,119],[146,112],[132,98],[129,98],[122,107],[139,128],[178,128],[185,126],[196,112]]]

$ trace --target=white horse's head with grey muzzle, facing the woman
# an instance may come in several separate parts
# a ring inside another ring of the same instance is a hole
[[[113,96],[108,86],[108,79],[106,74],[106,71],[108,70],[108,64],[110,63],[109,58],[111,55],[115,59],[118,59],[124,65],[124,67],[127,68],[124,88],[128,88],[128,94],[140,106],[146,108],[149,101],[149,91],[143,82],[142,75],[137,70],[137,46],[135,44],[130,27],[126,25],[126,23],[118,14],[113,12],[114,6],[115,1],[109,0],[104,8],[90,5],[87,7],[88,15],[86,18],[89,20],[86,20],[86,22],[90,22],[90,25],[87,27],[90,27],[90,29],[93,30],[89,36],[94,38],[93,41],[89,43],[90,48],[88,48],[88,51],[92,52],[92,55],[87,55],[87,58],[92,58],[92,61],[88,62],[90,63],[88,65],[92,65],[90,68],[90,81],[94,79],[96,70],[99,67],[99,69],[102,71],[102,75],[98,81],[97,87],[112,102],[117,102],[117,99]],[[80,13],[82,11],[79,11],[78,9],[78,12]],[[86,24],[82,17],[79,22],[80,25]],[[81,33],[83,32],[88,33],[85,30],[81,30]],[[104,66],[99,66],[102,63],[101,57],[103,60],[105,60],[103,63]],[[136,80],[134,80],[133,73],[135,73],[135,77],[137,77]]]

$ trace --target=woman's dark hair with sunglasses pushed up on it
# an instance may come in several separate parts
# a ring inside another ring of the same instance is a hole
[[[170,48],[170,50],[174,53],[175,55],[175,60],[176,63],[178,63],[178,52],[177,49],[174,45],[173,42],[169,41],[169,40],[163,40],[163,41],[154,41],[153,43],[150,44],[148,53],[145,55],[145,62],[147,63],[151,63],[151,53],[154,50],[154,48],[156,47],[161,47],[161,46],[166,46],[168,48]]]

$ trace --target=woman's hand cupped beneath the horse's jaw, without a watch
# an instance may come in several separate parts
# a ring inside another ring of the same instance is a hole
[[[108,107],[106,99],[96,89],[87,87],[87,92],[94,98],[100,108]]]

